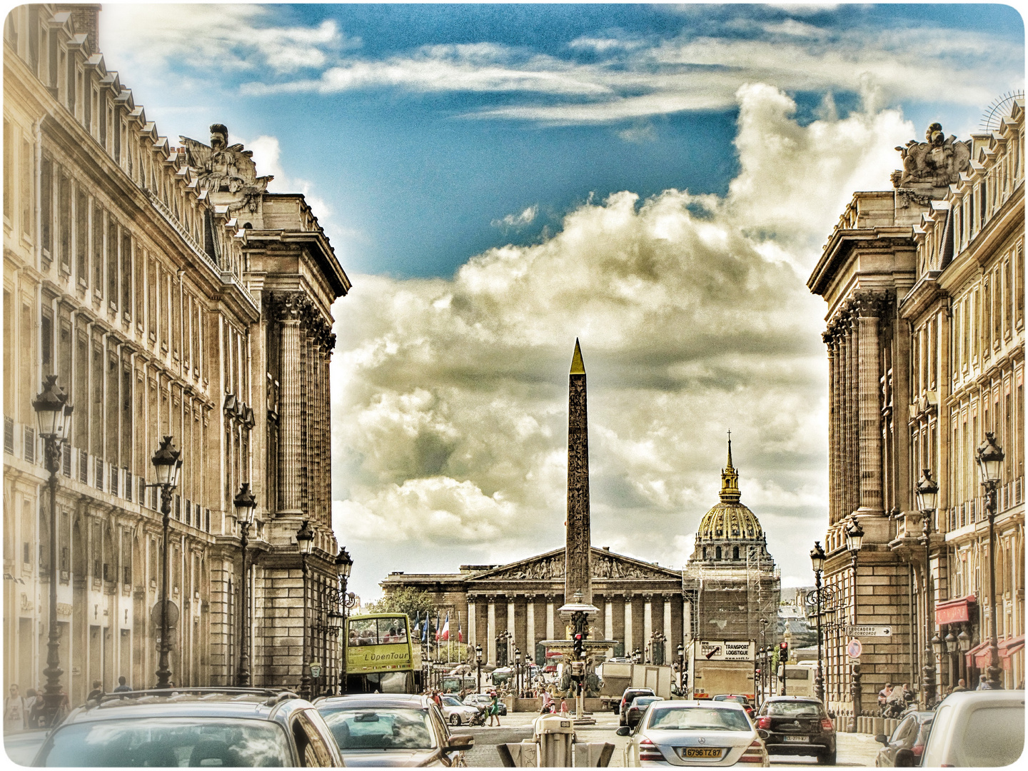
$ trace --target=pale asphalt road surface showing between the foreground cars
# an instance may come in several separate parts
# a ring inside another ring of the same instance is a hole
[[[519,742],[531,736],[531,721],[537,715],[527,712],[513,712],[501,718],[501,725],[481,728],[454,728],[453,733],[470,733],[475,737],[475,747],[466,754],[468,765],[475,768],[495,768],[503,764],[497,744]],[[624,747],[628,738],[617,736],[618,715],[613,712],[597,712],[593,715],[595,726],[579,727],[576,734],[579,741],[610,741],[614,743],[612,766],[624,766]],[[874,766],[875,756],[881,746],[873,737],[865,734],[839,734],[838,736],[839,766]],[[771,756],[772,766],[816,766],[814,757],[781,757]]]

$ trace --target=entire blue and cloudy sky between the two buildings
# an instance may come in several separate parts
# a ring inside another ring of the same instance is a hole
[[[303,192],[333,305],[351,588],[563,544],[567,370],[594,546],[681,567],[732,431],[783,584],[827,525],[824,304],[806,279],[896,146],[1024,88],[1001,4],[105,3],[173,144],[213,122]]]

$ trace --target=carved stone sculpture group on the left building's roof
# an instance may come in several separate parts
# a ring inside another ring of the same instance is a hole
[[[186,148],[187,162],[196,170],[199,187],[212,193],[229,193],[234,198],[215,203],[227,204],[229,211],[243,207],[251,212],[257,211],[259,196],[274,177],[257,176],[253,150],[244,150],[240,144],[229,145],[228,128],[224,123],[211,125],[210,145],[188,137],[179,139]]]

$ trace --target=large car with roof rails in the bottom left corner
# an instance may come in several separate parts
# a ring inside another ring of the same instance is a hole
[[[108,694],[73,709],[34,766],[341,766],[314,705],[289,691]]]

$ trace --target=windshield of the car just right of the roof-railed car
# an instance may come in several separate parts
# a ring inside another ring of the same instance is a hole
[[[323,709],[339,749],[435,749],[428,709],[350,707]]]

